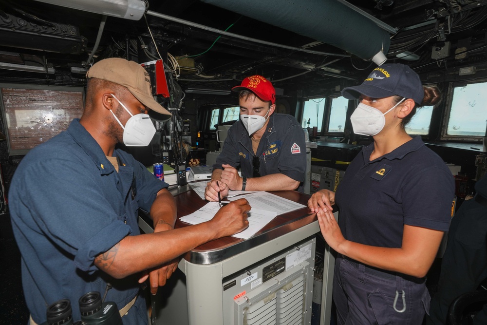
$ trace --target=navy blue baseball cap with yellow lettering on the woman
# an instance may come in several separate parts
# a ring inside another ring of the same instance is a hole
[[[421,105],[424,90],[418,74],[409,66],[389,63],[375,68],[361,85],[344,88],[341,94],[347,99],[357,99],[360,95],[372,98],[397,95]]]

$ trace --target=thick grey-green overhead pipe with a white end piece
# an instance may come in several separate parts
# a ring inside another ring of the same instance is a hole
[[[338,0],[201,0],[333,45],[377,65],[391,40],[377,24]]]

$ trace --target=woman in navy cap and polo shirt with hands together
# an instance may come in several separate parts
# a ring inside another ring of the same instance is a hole
[[[354,133],[374,142],[352,161],[336,193],[321,190],[308,201],[338,253],[338,324],[421,324],[430,304],[425,276],[450,225],[454,181],[405,125],[417,108],[438,103],[440,93],[423,88],[408,66],[384,64],[342,95],[359,99]]]

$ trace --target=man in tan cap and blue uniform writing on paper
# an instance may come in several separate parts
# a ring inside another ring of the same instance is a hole
[[[31,150],[10,186],[30,324],[45,322],[46,307],[61,299],[70,300],[73,320],[80,320],[78,299],[92,291],[116,303],[124,324],[147,324],[139,283],[149,278],[155,294],[181,254],[247,227],[250,207],[242,199],[209,222],[173,229],[168,184],[115,149],[150,143],[149,110],[170,115],[151,96],[147,72],[136,62],[108,58],[87,77],[82,117]],[[154,233],[140,234],[138,209],[149,211]]]

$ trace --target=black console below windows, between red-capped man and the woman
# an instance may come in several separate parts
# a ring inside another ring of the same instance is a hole
[[[317,148],[311,148],[311,157],[338,164],[343,162],[348,163],[355,158],[360,150],[362,150],[362,145],[339,142],[317,142]]]

